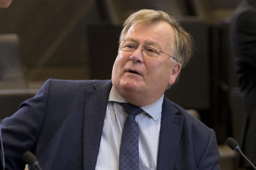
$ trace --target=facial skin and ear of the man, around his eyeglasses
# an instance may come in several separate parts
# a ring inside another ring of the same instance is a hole
[[[154,45],[171,55],[171,44],[175,41],[173,28],[166,22],[153,25],[132,25],[125,40],[137,44]],[[170,56],[160,52],[157,58],[143,56],[142,47],[133,53],[119,50],[112,70],[112,83],[117,92],[124,97],[127,93],[153,96],[159,99],[168,84],[173,84],[180,71],[180,63],[173,64]],[[125,98],[125,97],[124,97]],[[156,99],[156,100],[157,100]],[[127,100],[127,99],[126,99]]]

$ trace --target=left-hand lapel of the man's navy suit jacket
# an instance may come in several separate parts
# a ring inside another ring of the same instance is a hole
[[[96,166],[111,87],[111,80],[101,81],[94,84],[94,89],[86,92],[83,129],[84,169],[95,169]]]

